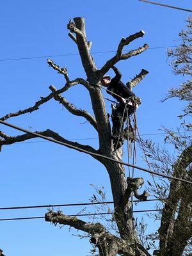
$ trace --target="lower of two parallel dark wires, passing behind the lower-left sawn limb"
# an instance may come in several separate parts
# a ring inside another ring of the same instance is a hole
[[[141,211],[133,211],[134,213],[139,212],[157,212],[162,211],[162,209],[159,210],[141,210]],[[88,213],[88,214],[71,214],[67,215],[68,217],[76,217],[76,216],[95,216],[95,215],[107,215],[107,214],[113,214],[113,212],[101,212],[101,213]],[[22,217],[22,218],[6,218],[6,219],[0,219],[0,221],[8,221],[8,220],[34,220],[34,219],[44,219],[44,216],[40,217]]]

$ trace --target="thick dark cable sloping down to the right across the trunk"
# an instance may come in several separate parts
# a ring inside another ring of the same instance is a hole
[[[152,173],[152,174],[154,174],[154,175],[157,175],[157,176],[160,176],[160,177],[164,177],[164,178],[166,178],[166,179],[170,179],[170,180],[179,180],[179,181],[182,181],[182,182],[186,182],[186,183],[188,183],[188,184],[192,184],[192,182],[189,181],[189,180],[184,180],[184,179],[180,179],[180,178],[177,178],[177,177],[170,177],[170,176],[165,175],[165,174],[163,174],[163,173],[152,172],[152,171],[150,171],[150,170],[148,170],[148,169],[145,169],[145,168],[142,168],[142,167],[140,167],[140,166],[136,166],[136,165],[133,165],[133,164],[125,163],[125,162],[123,162],[123,161],[118,161],[118,160],[113,159],[113,158],[111,158],[111,157],[104,156],[104,155],[100,155],[100,154],[97,154],[97,153],[94,153],[94,152],[90,152],[90,151],[88,151],[88,150],[84,150],[83,148],[79,148],[79,147],[76,147],[76,146],[74,146],[74,145],[70,145],[70,144],[65,143],[65,142],[61,142],[61,141],[58,141],[58,140],[54,140],[54,139],[52,139],[52,138],[43,136],[43,135],[38,134],[38,133],[36,133],[36,132],[28,131],[28,130],[23,129],[23,128],[21,128],[21,127],[18,127],[18,126],[16,126],[16,125],[8,124],[8,123],[6,123],[6,122],[4,122],[4,121],[2,121],[2,120],[0,120],[0,123],[3,124],[3,125],[6,125],[6,126],[8,126],[8,127],[12,127],[13,129],[17,129],[17,130],[19,130],[19,131],[26,132],[26,133],[28,133],[28,134],[32,134],[32,135],[35,136],[35,137],[40,137],[40,138],[42,138],[42,139],[44,139],[44,140],[49,140],[49,141],[51,141],[51,142],[54,142],[54,143],[57,143],[57,144],[66,146],[66,147],[68,147],[68,148],[76,149],[76,150],[78,150],[79,152],[83,152],[83,153],[89,154],[89,155],[91,155],[91,156],[96,156],[96,157],[101,157],[101,158],[104,158],[104,159],[108,159],[108,160],[113,161],[113,162],[115,162],[115,163],[123,164],[123,165],[126,165],[126,166],[130,166],[130,167],[136,168],[136,169],[138,169],[138,170],[141,170],[141,171],[143,171],[143,172]]]

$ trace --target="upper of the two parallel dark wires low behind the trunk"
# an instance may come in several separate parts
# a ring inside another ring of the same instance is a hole
[[[159,199],[148,199],[148,200],[134,200],[134,203],[139,202],[150,202],[159,201]],[[81,203],[81,204],[49,204],[49,205],[28,205],[28,206],[16,206],[16,207],[0,207],[0,210],[15,210],[15,209],[33,209],[33,208],[45,208],[45,207],[67,207],[67,206],[84,206],[84,205],[100,205],[100,204],[113,204],[113,201],[109,202],[95,202],[95,203]]]

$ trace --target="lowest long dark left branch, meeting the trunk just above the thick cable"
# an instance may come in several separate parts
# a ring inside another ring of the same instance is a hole
[[[58,133],[56,133],[54,131],[51,131],[49,129],[47,129],[46,131],[36,131],[36,133],[44,135],[46,137],[51,137],[54,140],[58,140],[58,141],[67,143],[68,145],[72,145],[72,146],[75,146],[75,147],[78,147],[78,148],[81,148],[81,149],[84,149],[84,150],[88,150],[90,152],[97,153],[97,150],[90,147],[89,145],[82,145],[82,144],[79,144],[77,142],[66,140],[65,138],[61,137]],[[11,144],[16,143],[16,142],[31,140],[31,139],[36,138],[36,137],[37,136],[35,136],[35,134],[29,134],[29,133],[22,134],[22,135],[19,135],[19,136],[9,137],[6,140],[1,140],[0,141],[0,147],[2,147],[3,145],[11,145]],[[79,152],[81,152],[81,151],[79,151]]]

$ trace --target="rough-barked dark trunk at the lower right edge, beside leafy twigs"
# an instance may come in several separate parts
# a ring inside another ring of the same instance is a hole
[[[186,148],[186,150],[184,150],[184,152],[182,152],[182,154],[180,155],[178,161],[175,163],[173,176],[189,177],[188,172],[186,171],[186,168],[188,168],[189,164],[191,163],[192,163],[192,146]],[[188,212],[191,209],[191,197],[192,197],[191,193],[189,193],[190,191],[191,189],[188,189],[185,191],[184,185],[181,182],[172,180],[170,184],[169,196],[165,200],[162,217],[161,217],[161,226],[159,228],[159,235],[160,235],[159,255],[162,255],[162,256],[172,255],[170,254],[170,252],[172,251],[173,246],[171,246],[170,244],[173,244],[173,243],[170,241],[172,241],[173,237],[175,237],[175,239],[180,239],[179,225],[177,225],[178,228],[176,228],[175,223],[179,223],[179,219],[182,217],[182,214],[183,214],[182,218],[188,218]],[[179,207],[179,203],[180,203],[179,212],[182,212],[182,214],[180,213],[177,216],[177,220],[175,222],[175,214],[177,212],[177,208]],[[186,216],[184,214],[184,209],[186,211]],[[186,225],[188,226],[189,229],[191,228],[190,227],[191,224],[189,223],[189,221],[186,220],[185,224],[184,224],[184,221],[182,222],[184,226],[180,225],[180,228],[185,227]],[[183,229],[182,229],[182,232],[184,232]],[[184,239],[183,237],[182,241],[186,241],[186,239]]]

